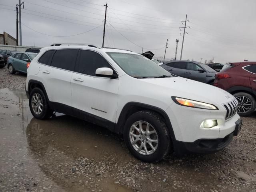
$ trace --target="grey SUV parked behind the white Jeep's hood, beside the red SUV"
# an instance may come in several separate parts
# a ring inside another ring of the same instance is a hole
[[[207,84],[213,84],[215,79],[215,70],[196,61],[165,61],[160,66],[171,74]]]

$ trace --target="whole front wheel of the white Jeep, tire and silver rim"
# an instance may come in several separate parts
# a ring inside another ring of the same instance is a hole
[[[147,125],[149,125],[148,131],[150,131],[151,134],[145,136]],[[134,126],[136,126],[137,129],[135,129]],[[143,131],[140,127],[142,127]],[[152,133],[154,130],[156,133]],[[133,135],[130,135],[130,132],[132,132]],[[141,132],[143,133],[141,134]],[[136,137],[134,135],[136,135]],[[158,143],[150,142],[150,139],[158,140]],[[138,141],[132,144],[134,140]],[[151,111],[136,112],[126,120],[124,125],[124,141],[130,152],[136,158],[144,162],[158,162],[162,160],[162,158],[168,154],[171,147],[171,140],[166,124],[162,118]],[[150,146],[150,143],[155,150],[152,150],[153,148]],[[147,150],[143,147],[145,144]],[[148,154],[146,154],[146,151]]]

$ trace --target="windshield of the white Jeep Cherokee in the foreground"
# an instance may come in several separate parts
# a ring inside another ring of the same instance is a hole
[[[142,55],[130,53],[107,53],[115,62],[134,78],[154,78],[154,77],[173,77],[162,67]]]

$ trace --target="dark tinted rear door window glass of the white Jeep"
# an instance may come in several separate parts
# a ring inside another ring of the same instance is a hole
[[[56,50],[52,58],[53,67],[74,71],[78,50]]]

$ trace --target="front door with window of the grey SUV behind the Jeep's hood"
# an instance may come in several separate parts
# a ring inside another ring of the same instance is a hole
[[[205,82],[206,80],[206,72],[200,72],[198,69],[204,70],[202,67],[200,67],[198,64],[192,63],[192,62],[186,62],[186,78],[192,79],[195,81]]]

